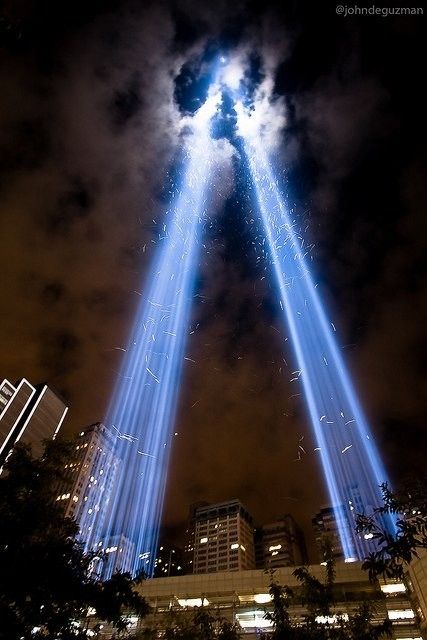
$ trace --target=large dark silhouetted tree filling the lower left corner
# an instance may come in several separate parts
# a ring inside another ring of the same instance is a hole
[[[148,612],[130,574],[105,582],[91,575],[93,558],[56,501],[71,451],[69,443],[50,441],[36,460],[18,445],[0,478],[1,640],[87,638],[90,611],[120,635],[126,611]]]

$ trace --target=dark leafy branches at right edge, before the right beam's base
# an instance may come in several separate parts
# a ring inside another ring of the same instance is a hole
[[[381,485],[384,504],[371,516],[357,516],[358,531],[377,544],[362,565],[371,580],[380,575],[401,580],[407,565],[418,558],[420,550],[427,549],[426,486],[424,478],[397,493],[384,483]],[[395,533],[386,530],[384,518],[395,519]]]

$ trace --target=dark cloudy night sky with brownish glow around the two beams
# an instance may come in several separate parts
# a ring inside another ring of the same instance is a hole
[[[254,86],[271,80],[284,189],[390,475],[423,470],[426,16],[336,4],[3,5],[1,374],[56,388],[67,434],[103,419],[180,123],[224,51],[249,55]],[[239,497],[258,522],[290,512],[308,533],[327,499],[239,167],[218,176],[205,225],[164,522]]]

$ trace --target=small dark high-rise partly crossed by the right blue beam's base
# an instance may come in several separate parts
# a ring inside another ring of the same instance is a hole
[[[324,562],[330,553],[335,560],[344,560],[339,530],[350,531],[345,509],[322,507],[312,519],[319,562]]]

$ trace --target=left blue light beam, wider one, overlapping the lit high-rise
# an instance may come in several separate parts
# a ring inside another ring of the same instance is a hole
[[[103,578],[118,569],[133,575],[154,569],[212,161],[210,121],[219,104],[220,93],[211,89],[191,118],[181,187],[165,216],[105,420],[117,437],[119,477],[80,521],[86,550],[109,554]]]

